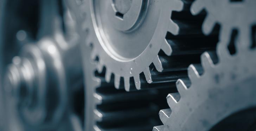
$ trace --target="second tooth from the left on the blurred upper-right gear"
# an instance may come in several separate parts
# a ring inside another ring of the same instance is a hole
[[[203,33],[205,35],[209,35],[213,29],[213,27],[215,26],[215,20],[213,19],[214,17],[211,14],[207,14],[204,23],[203,23]]]

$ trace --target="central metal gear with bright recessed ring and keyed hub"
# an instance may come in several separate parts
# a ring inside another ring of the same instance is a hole
[[[172,54],[170,44],[165,40],[167,32],[179,33],[179,27],[170,18],[172,11],[181,11],[180,0],[107,0],[85,2],[90,13],[87,22],[89,37],[94,50],[91,58],[98,58],[97,70],[106,67],[105,80],[115,76],[115,87],[130,90],[130,78],[134,78],[136,89],[140,89],[140,73],[152,83],[149,65],[153,62],[156,70],[163,70],[158,53]],[[154,19],[152,19],[154,18]],[[143,38],[143,39],[142,39]]]

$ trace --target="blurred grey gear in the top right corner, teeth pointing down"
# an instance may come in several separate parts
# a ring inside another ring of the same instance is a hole
[[[255,15],[255,5],[255,0],[196,0],[191,6],[191,13],[196,15],[206,10],[207,16],[202,26],[205,34],[209,34],[216,23],[220,24],[219,39],[222,46],[228,44],[233,30],[239,32],[238,40],[249,46],[251,27],[256,17],[248,16]]]

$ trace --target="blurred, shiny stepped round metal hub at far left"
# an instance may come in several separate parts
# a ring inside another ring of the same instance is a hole
[[[50,39],[41,40],[38,46],[27,44],[7,69],[5,90],[11,91],[21,119],[30,129],[44,129],[45,123],[55,125],[67,103],[65,71],[55,45]],[[50,82],[52,79],[55,82]],[[57,93],[55,97],[51,97],[52,92]]]

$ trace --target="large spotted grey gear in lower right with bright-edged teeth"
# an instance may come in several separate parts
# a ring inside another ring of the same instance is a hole
[[[255,130],[256,50],[239,42],[231,55],[220,44],[217,55],[204,53],[202,66],[191,65],[189,79],[177,81],[178,93],[167,96],[170,109],[159,112],[164,125],[154,131]]]

